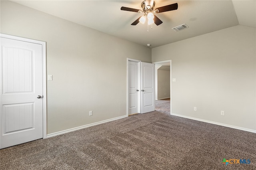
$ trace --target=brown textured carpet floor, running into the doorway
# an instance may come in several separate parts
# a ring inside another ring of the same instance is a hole
[[[256,170],[256,134],[169,112],[168,99],[156,101],[154,112],[2,149],[0,169]]]

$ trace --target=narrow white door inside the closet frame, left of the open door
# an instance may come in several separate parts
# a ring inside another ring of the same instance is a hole
[[[128,115],[140,113],[139,63],[128,61]]]

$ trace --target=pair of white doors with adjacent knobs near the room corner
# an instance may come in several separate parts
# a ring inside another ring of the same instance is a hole
[[[155,110],[155,65],[128,61],[128,115]]]

